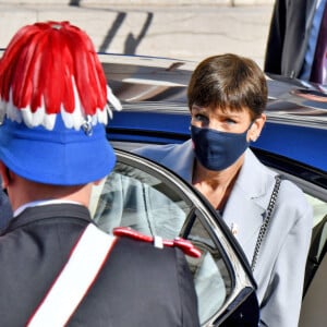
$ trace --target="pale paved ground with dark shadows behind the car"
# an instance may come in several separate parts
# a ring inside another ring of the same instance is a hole
[[[20,5],[0,1],[0,47],[19,27],[45,20],[71,21],[99,51],[199,61],[235,52],[263,64],[271,4]]]

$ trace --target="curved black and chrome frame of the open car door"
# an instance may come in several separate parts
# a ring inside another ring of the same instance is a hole
[[[174,172],[149,159],[136,154],[119,149],[116,147],[117,160],[124,165],[133,166],[136,169],[160,177],[168,185],[179,190],[182,197],[187,197],[192,203],[197,217],[210,232],[215,244],[223,254],[225,263],[231,272],[233,291],[229,299],[209,320],[203,326],[231,326],[235,319],[240,323],[246,320],[246,315],[252,315],[251,319],[258,319],[258,303],[255,295],[256,282],[245,254],[218,214],[208,204],[207,199],[197,192],[190,183],[182,180]],[[185,228],[183,229],[183,233]],[[185,237],[185,234],[182,234]],[[250,304],[246,305],[246,302]],[[256,306],[256,308],[255,308]],[[229,322],[229,323],[228,323]]]

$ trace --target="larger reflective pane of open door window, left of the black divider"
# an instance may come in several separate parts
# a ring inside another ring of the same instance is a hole
[[[109,232],[124,226],[173,239],[189,211],[190,207],[173,190],[144,171],[118,162],[102,185],[94,220]]]

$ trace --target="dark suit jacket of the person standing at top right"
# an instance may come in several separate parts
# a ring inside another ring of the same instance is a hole
[[[317,0],[276,0],[264,70],[299,77]]]

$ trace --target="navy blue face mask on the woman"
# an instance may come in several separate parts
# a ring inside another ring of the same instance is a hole
[[[191,125],[196,159],[209,170],[228,168],[249,147],[250,142],[246,140],[246,133],[250,128],[244,133],[227,133]]]

